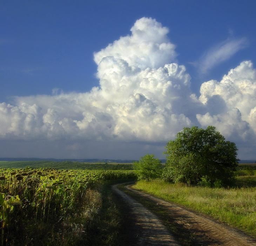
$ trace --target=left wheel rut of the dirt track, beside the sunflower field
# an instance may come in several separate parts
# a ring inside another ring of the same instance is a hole
[[[112,190],[129,205],[131,216],[134,216],[139,227],[136,246],[180,246],[154,214],[116,186],[113,185]]]

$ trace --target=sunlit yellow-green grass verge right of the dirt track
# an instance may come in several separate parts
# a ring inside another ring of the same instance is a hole
[[[189,187],[153,180],[138,181],[133,188],[210,215],[256,237],[256,187]]]

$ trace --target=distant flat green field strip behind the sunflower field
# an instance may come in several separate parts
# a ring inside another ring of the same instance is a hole
[[[73,161],[0,161],[0,168],[56,168],[88,170],[132,170],[132,163],[85,163]]]

